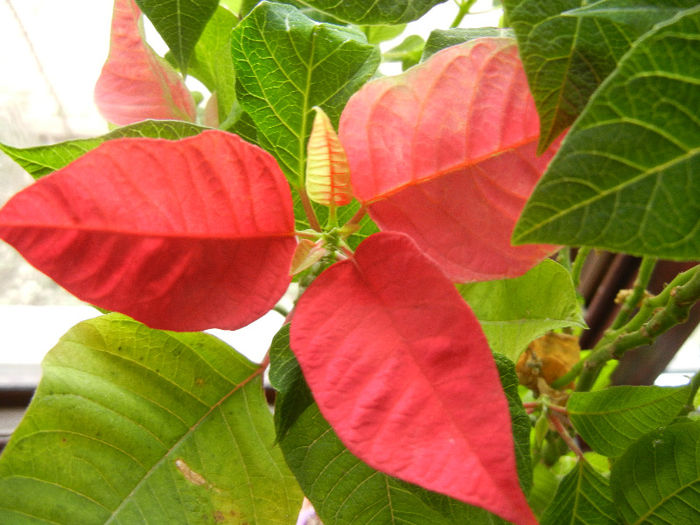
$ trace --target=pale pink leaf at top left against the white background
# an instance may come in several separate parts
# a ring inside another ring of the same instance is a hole
[[[134,0],[115,0],[109,56],[95,86],[95,103],[109,122],[146,119],[194,122],[192,95],[182,78],[146,44]]]

